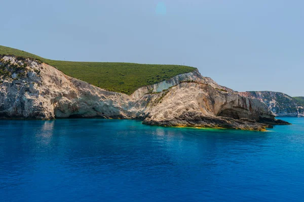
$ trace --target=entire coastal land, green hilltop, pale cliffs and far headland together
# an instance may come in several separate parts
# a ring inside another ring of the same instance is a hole
[[[139,119],[263,131],[289,124],[276,115],[303,114],[301,97],[237,92],[179,65],[54,61],[0,46],[0,78],[1,119]]]

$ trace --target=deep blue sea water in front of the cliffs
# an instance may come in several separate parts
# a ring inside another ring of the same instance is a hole
[[[269,132],[0,121],[0,201],[303,201],[304,118]]]

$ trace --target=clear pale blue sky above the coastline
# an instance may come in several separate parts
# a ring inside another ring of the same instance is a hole
[[[185,64],[238,91],[304,96],[304,1],[1,1],[2,45],[69,61]]]

